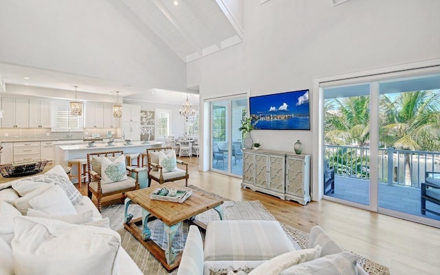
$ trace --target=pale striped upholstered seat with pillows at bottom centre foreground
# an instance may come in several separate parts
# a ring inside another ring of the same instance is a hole
[[[191,225],[177,275],[367,274],[319,226],[311,229],[309,249],[291,244],[278,221],[210,221],[203,248]]]

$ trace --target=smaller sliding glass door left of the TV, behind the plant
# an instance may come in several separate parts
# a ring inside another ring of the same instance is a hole
[[[211,102],[211,170],[243,175],[242,137],[239,127],[247,110],[246,98]]]

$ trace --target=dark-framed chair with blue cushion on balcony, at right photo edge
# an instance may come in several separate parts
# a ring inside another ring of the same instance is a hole
[[[425,173],[426,182],[421,184],[421,196],[420,196],[421,214],[426,214],[426,212],[430,212],[432,214],[440,215],[439,212],[435,212],[434,210],[430,210],[426,208],[426,201],[430,201],[440,206],[440,179],[437,179],[436,177],[432,177],[434,175],[440,175],[440,173],[426,172]]]

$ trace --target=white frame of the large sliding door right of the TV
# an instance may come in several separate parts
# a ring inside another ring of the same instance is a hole
[[[335,87],[342,85],[354,85],[357,83],[371,83],[370,87],[370,100],[371,100],[371,123],[370,123],[370,146],[371,146],[371,163],[378,163],[378,151],[379,151],[379,125],[378,115],[379,115],[379,83],[381,80],[390,80],[393,78],[406,78],[406,77],[417,77],[424,76],[428,74],[439,74],[440,73],[440,58],[419,61],[417,63],[407,63],[402,65],[395,65],[389,67],[381,67],[378,69],[369,69],[366,71],[353,72],[349,74],[341,74],[336,76],[328,76],[322,78],[314,79],[314,94],[312,100],[316,102],[313,110],[312,118],[316,123],[314,124],[313,130],[318,133],[313,135],[314,144],[314,157],[312,162],[313,170],[316,171],[314,175],[324,175],[324,89],[326,87]],[[374,120],[374,121],[373,121]],[[440,221],[434,221],[432,219],[424,217],[415,217],[410,214],[405,214],[402,212],[397,212],[394,210],[388,210],[386,208],[380,208],[378,206],[378,167],[372,165],[370,170],[370,201],[369,206],[362,205],[360,203],[353,203],[351,201],[344,201],[342,199],[337,199],[329,197],[323,194],[324,177],[318,176],[318,179],[314,179],[312,188],[312,199],[319,201],[322,198],[328,199],[330,201],[336,201],[338,203],[347,204],[349,206],[354,206],[357,208],[363,208],[366,210],[371,210],[373,212],[379,212],[382,214],[388,214],[394,217],[399,217],[402,219],[408,219],[411,221],[416,221],[419,223],[424,223],[427,225],[432,225],[435,227],[440,227]]]

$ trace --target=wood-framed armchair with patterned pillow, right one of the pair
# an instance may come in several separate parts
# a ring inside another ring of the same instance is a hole
[[[172,147],[148,148],[146,149],[146,159],[148,186],[151,186],[151,179],[154,179],[159,184],[185,179],[185,186],[188,186],[188,164],[180,159],[176,159],[175,151]],[[183,166],[184,169],[178,168],[177,164]]]

